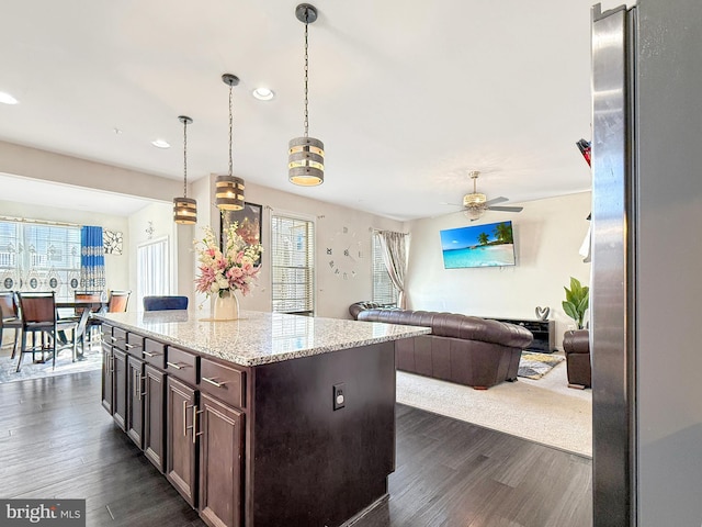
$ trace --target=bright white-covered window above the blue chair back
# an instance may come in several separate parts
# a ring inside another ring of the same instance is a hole
[[[136,300],[170,294],[171,272],[168,237],[146,242],[137,247]]]

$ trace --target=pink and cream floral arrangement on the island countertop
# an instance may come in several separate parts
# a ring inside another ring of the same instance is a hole
[[[237,232],[237,222],[230,223],[227,227],[224,251],[219,248],[218,239],[211,226],[204,227],[204,237],[194,242],[200,271],[195,280],[195,291],[199,293],[213,295],[215,299],[231,298],[237,302],[235,291],[241,291],[242,295],[251,291],[260,271],[260,267],[253,264],[259,259],[263,248],[260,244],[247,244]],[[215,318],[220,319],[216,314]]]

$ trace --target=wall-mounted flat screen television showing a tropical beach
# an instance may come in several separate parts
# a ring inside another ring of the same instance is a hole
[[[440,231],[444,269],[513,266],[512,222]]]

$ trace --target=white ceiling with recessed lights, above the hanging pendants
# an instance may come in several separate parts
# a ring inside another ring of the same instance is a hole
[[[471,170],[488,199],[580,192],[592,2],[320,0],[309,135],[325,182],[299,188],[286,175],[304,130],[297,1],[9,0],[0,91],[20,103],[0,104],[0,141],[182,180],[185,114],[189,181],[226,173],[231,72],[246,181],[398,220],[458,210],[444,203],[472,190]],[[256,100],[259,86],[275,98]],[[0,199],[20,181],[0,179]]]

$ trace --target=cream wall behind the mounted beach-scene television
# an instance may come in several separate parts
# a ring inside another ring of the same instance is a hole
[[[587,234],[590,192],[520,203],[521,213],[490,212],[472,224],[511,220],[517,266],[444,269],[439,231],[468,225],[463,214],[409,223],[408,307],[466,315],[536,318],[548,306],[556,321],[556,346],[573,319],[563,312],[570,277],[589,284],[590,264],[578,249]]]

